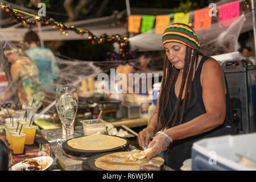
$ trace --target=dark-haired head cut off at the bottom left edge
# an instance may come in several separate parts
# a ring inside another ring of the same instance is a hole
[[[7,144],[0,138],[0,171],[8,171],[11,167],[11,152]]]

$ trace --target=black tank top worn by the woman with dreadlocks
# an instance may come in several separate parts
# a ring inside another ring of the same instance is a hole
[[[197,67],[196,74],[192,82],[191,102],[188,108],[185,109],[182,123],[191,121],[192,119],[198,117],[199,115],[206,113],[204,102],[203,102],[203,89],[200,82],[200,75],[201,75],[204,62],[209,58],[210,57],[208,56],[203,56],[199,63],[199,66]],[[197,60],[198,60],[198,56],[196,59],[196,65],[197,65]],[[177,72],[176,74],[175,82],[177,80],[178,75],[179,75],[179,72]],[[226,82],[226,78],[225,78],[225,82]],[[174,86],[172,86],[170,94],[171,95],[168,101],[167,108],[164,111],[164,117],[166,118],[167,121],[170,118],[170,115],[172,113],[172,110],[175,107],[175,103],[177,100],[177,97],[174,91]],[[180,120],[182,104],[183,104],[183,100],[181,100],[181,103],[179,106],[179,114],[178,114],[178,119],[176,123],[179,123],[179,120]],[[169,126],[171,127],[172,123],[170,123]],[[213,129],[206,133],[199,134],[193,137],[188,137],[181,140],[174,140],[174,142],[170,144],[170,147],[165,152],[165,160],[166,160],[167,166],[170,166],[175,170],[179,170],[184,160],[191,158],[191,148],[192,148],[193,142],[196,142],[197,140],[200,140],[203,138],[218,137],[221,135],[229,135],[229,134],[232,134],[232,135],[237,134],[237,131],[236,131],[236,126],[233,124],[232,105],[229,98],[228,84],[226,82],[226,118],[224,123],[218,126],[216,129]]]

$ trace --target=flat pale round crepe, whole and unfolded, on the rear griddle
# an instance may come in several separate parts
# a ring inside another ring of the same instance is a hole
[[[85,137],[68,140],[68,145],[79,150],[110,150],[121,147],[127,143],[127,140],[110,135],[89,135]]]

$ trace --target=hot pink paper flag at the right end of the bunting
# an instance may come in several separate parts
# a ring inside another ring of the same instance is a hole
[[[240,16],[239,1],[218,6],[218,27],[228,27]]]

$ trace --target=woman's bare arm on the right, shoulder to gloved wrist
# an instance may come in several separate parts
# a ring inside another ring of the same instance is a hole
[[[172,140],[205,133],[220,126],[226,115],[225,80],[222,69],[214,59],[205,61],[202,68],[203,102],[206,113],[189,122],[164,131]]]

